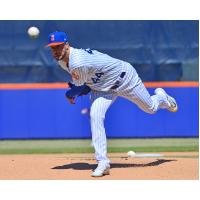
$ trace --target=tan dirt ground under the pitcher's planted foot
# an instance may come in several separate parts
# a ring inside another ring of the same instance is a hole
[[[199,179],[198,152],[162,152],[161,157],[109,154],[110,175],[93,178],[93,154],[0,155],[3,180],[194,180]]]

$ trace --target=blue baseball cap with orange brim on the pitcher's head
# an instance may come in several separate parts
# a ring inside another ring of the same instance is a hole
[[[57,46],[66,42],[68,42],[67,34],[65,32],[56,31],[49,34],[47,46]]]

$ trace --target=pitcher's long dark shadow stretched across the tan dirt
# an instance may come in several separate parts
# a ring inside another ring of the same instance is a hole
[[[126,164],[126,163],[111,163],[111,168],[132,168],[132,167],[150,167],[150,166],[158,166],[166,162],[172,162],[176,160],[166,160],[166,159],[158,159],[153,162],[145,163],[145,164]],[[97,164],[88,164],[88,163],[71,163],[62,166],[56,166],[52,169],[75,169],[75,170],[93,170],[97,167]]]

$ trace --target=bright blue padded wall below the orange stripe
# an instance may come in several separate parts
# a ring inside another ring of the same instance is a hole
[[[146,114],[135,104],[118,98],[106,115],[109,138],[198,137],[198,88],[166,88],[179,111]],[[153,93],[153,88],[149,88]],[[63,89],[0,90],[0,139],[89,138],[88,96],[70,105]]]

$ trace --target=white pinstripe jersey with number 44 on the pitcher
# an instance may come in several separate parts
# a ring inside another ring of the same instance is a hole
[[[126,64],[122,60],[96,50],[73,47],[70,47],[69,67],[63,61],[58,63],[71,75],[73,72],[78,75],[77,80],[73,79],[76,86],[86,83],[91,89],[97,91],[108,91],[119,79]]]

